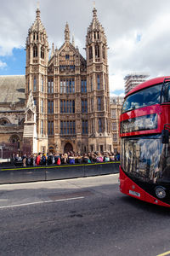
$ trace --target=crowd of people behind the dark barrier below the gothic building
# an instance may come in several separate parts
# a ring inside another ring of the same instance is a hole
[[[40,166],[40,165],[64,165],[64,164],[88,164],[88,163],[101,163],[120,160],[120,154],[91,152],[88,154],[78,154],[74,152],[68,152],[65,154],[31,154],[20,156],[19,154],[13,154],[11,162],[16,165],[21,163],[26,166]]]

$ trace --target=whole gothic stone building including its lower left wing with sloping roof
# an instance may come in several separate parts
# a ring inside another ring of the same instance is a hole
[[[26,38],[26,76],[0,78],[0,143],[31,145],[32,152],[112,151],[111,110],[104,28],[93,10],[86,59],[70,40],[52,46],[37,9]],[[10,96],[8,96],[10,92]]]

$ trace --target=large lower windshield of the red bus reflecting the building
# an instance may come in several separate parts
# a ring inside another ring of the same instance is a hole
[[[170,146],[161,135],[122,138],[122,169],[143,182],[170,182]]]

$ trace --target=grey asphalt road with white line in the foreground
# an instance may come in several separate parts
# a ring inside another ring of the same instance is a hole
[[[170,209],[122,195],[117,177],[1,185],[0,255],[170,255]]]

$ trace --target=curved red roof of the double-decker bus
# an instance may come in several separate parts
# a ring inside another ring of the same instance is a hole
[[[164,79],[170,79],[170,76],[147,80],[144,83],[139,84],[139,85],[135,86],[132,90],[130,90],[127,93],[127,95],[125,96],[125,98],[138,90],[143,90],[144,88],[150,87],[155,84],[161,84],[161,83],[163,83]]]

